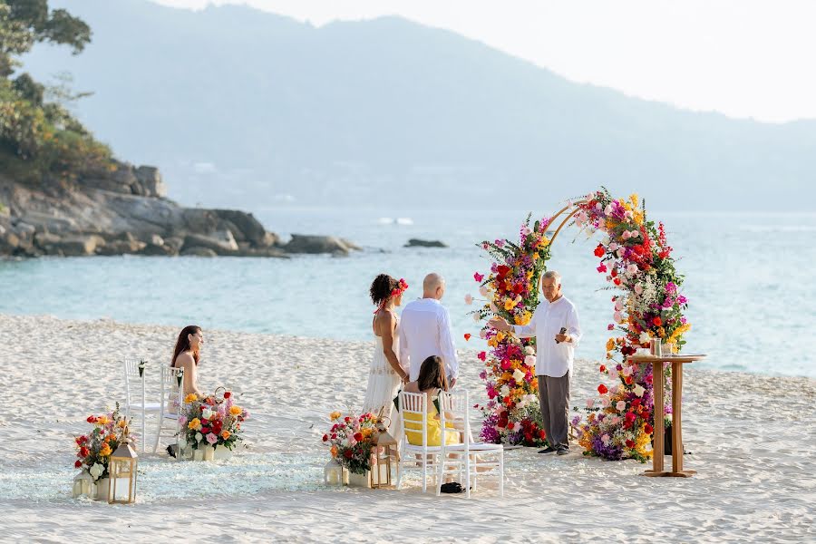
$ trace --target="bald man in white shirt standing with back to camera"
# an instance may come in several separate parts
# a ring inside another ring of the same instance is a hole
[[[408,303],[400,317],[400,364],[415,382],[423,361],[431,355],[442,357],[448,384],[459,376],[459,361],[451,334],[451,316],[440,304],[445,294],[445,278],[429,274],[423,281],[423,297]]]

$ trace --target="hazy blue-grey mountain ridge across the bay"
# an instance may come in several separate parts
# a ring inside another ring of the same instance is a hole
[[[816,197],[816,121],[685,112],[395,17],[316,28],[243,6],[52,4],[92,44],[39,47],[25,69],[73,73],[95,92],[86,125],[186,204],[547,209],[601,184],[653,209]]]

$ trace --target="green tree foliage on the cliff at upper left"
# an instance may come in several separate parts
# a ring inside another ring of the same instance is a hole
[[[111,151],[61,103],[46,102],[43,84],[16,73],[19,56],[44,42],[78,54],[91,42],[91,28],[66,10],[49,10],[47,0],[0,0],[0,166],[35,181],[104,169]]]

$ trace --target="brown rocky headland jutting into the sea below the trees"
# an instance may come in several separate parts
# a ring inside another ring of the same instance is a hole
[[[251,213],[185,208],[166,198],[160,172],[114,161],[73,181],[36,183],[0,172],[0,256],[338,256],[359,250],[331,236],[286,244]]]

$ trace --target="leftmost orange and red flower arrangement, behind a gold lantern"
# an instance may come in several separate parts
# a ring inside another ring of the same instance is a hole
[[[126,438],[131,443],[134,442],[133,437],[128,434],[130,420],[119,413],[119,403],[116,403],[116,408],[110,413],[89,415],[87,422],[93,425],[91,432],[73,439],[78,458],[73,466],[88,471],[93,480],[97,481],[108,477],[108,463],[116,448]]]

